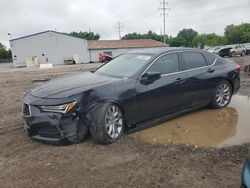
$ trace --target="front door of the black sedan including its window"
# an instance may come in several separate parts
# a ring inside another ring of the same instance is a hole
[[[185,103],[185,80],[180,72],[178,53],[160,56],[146,71],[160,72],[161,78],[150,84],[136,84],[136,122],[173,113]]]

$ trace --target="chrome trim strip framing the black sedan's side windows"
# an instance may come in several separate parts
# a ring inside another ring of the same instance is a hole
[[[194,50],[185,50],[185,51],[173,51],[173,52],[167,52],[167,53],[165,53],[165,54],[162,54],[162,55],[160,55],[159,57],[157,57],[144,71],[143,71],[143,73],[141,74],[141,76],[139,77],[139,78],[141,78],[144,74],[145,74],[145,72],[147,72],[147,70],[159,59],[159,58],[161,58],[162,56],[165,56],[165,55],[168,55],[168,54],[173,54],[173,53],[182,53],[182,52],[197,52],[197,51],[194,51]],[[197,52],[197,53],[201,53],[202,54],[202,52]],[[202,54],[203,55],[203,54]],[[204,55],[203,55],[203,58],[205,58],[204,57]],[[214,66],[215,65],[215,63],[216,63],[216,61],[217,61],[217,57],[215,56],[215,60],[214,60],[214,62],[211,64],[211,65],[207,65],[207,66],[202,66],[202,67],[197,67],[197,68],[193,68],[193,69],[188,69],[188,70],[183,70],[183,71],[177,71],[177,72],[173,72],[173,73],[168,73],[168,74],[162,74],[161,75],[161,77],[162,76],[168,76],[168,75],[173,75],[173,74],[179,74],[179,73],[183,73],[183,72],[189,72],[189,71],[193,71],[193,70],[199,70],[199,69],[203,69],[203,68],[209,68],[209,67],[212,67],[212,66]],[[205,60],[206,60],[206,62],[207,62],[207,59],[205,58]]]

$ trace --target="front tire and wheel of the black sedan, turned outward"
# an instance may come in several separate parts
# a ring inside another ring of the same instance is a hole
[[[92,110],[90,133],[96,143],[111,144],[122,136],[123,131],[123,114],[117,105],[102,103]]]

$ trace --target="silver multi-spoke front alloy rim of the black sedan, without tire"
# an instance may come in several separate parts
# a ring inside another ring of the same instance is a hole
[[[117,106],[109,106],[105,116],[105,127],[111,139],[116,139],[120,136],[123,128],[123,119],[122,113]]]

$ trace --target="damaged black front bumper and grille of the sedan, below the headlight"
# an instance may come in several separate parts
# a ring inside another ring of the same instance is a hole
[[[41,102],[33,96],[25,97],[22,115],[24,128],[29,136],[52,144],[62,141],[76,143],[79,140],[78,128],[81,123],[77,109],[66,114],[44,112],[36,105]]]

